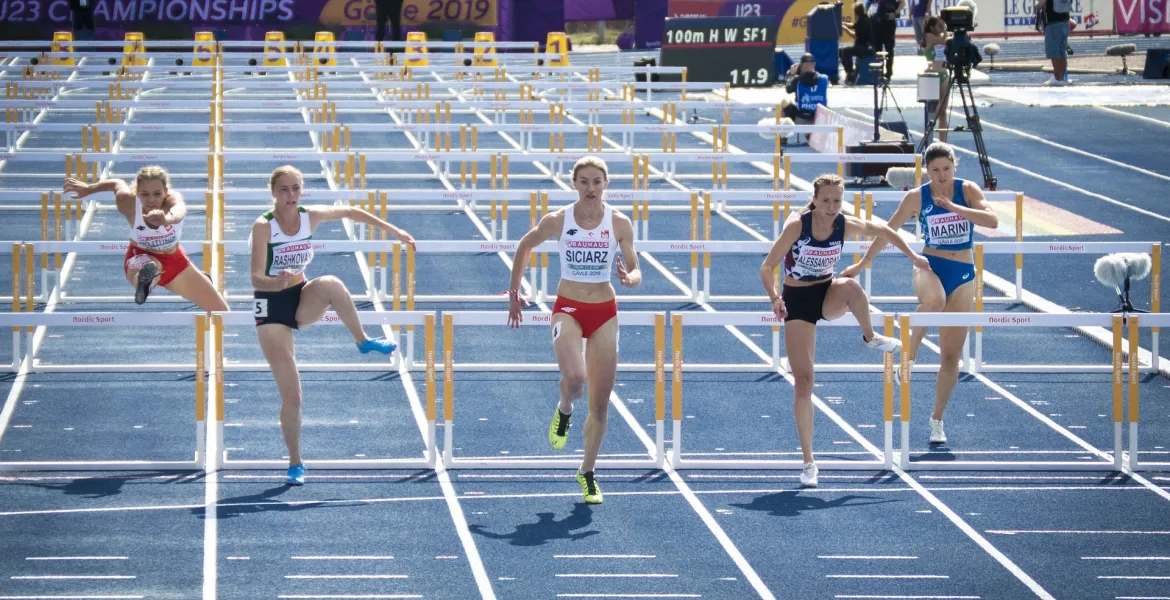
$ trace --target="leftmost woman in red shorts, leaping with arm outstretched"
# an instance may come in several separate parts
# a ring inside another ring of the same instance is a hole
[[[147,166],[138,171],[132,187],[121,179],[92,185],[67,179],[64,191],[73,192],[73,198],[113,192],[115,206],[130,223],[130,246],[122,268],[135,287],[135,302],[146,302],[154,285],[161,285],[205,311],[226,311],[223,296],[179,246],[187,207],[183,194],[170,189],[167,179],[161,167]]]

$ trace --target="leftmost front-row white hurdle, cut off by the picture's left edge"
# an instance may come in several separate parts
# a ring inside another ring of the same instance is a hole
[[[36,313],[0,313],[0,326],[13,326],[19,330],[27,327],[28,346],[33,346],[33,329],[41,327],[128,327],[128,326],[194,326],[194,357],[193,363],[185,365],[184,371],[194,372],[194,421],[195,421],[195,448],[194,456],[190,461],[4,461],[0,462],[0,471],[99,471],[99,470],[201,470],[205,465],[205,425],[206,425],[206,382],[208,370],[206,367],[206,342],[208,332],[208,317],[194,312],[152,312],[128,315],[124,312],[36,312]],[[19,335],[19,333],[18,333]],[[19,353],[19,346],[14,346],[14,353]],[[49,368],[47,365],[35,365],[32,351],[27,352],[20,360],[21,373],[43,372],[78,372],[64,368]],[[150,366],[133,365],[135,371],[150,371]],[[82,371],[85,372],[85,371]],[[95,371],[88,371],[95,372]],[[0,436],[2,436],[8,420],[12,418],[9,407],[0,414]]]

